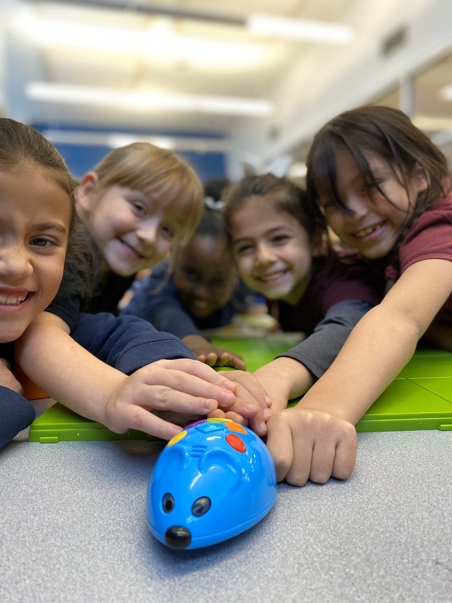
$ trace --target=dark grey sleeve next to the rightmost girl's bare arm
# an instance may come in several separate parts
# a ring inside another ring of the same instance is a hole
[[[321,377],[341,352],[353,327],[371,308],[372,304],[360,300],[336,303],[327,311],[312,335],[278,358],[294,358],[303,362],[316,377]]]

